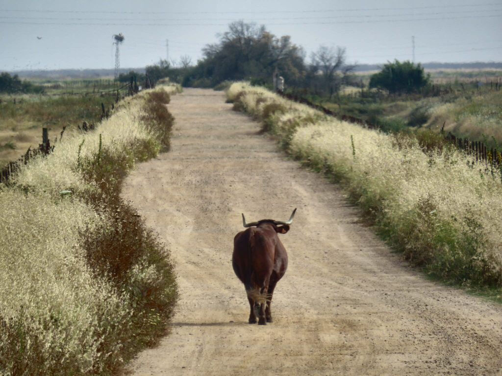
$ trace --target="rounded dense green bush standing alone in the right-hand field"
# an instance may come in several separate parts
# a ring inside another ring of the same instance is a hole
[[[369,80],[370,88],[386,89],[390,93],[410,93],[420,90],[429,84],[430,75],[426,75],[424,68],[410,61],[384,65],[382,71],[375,73]]]

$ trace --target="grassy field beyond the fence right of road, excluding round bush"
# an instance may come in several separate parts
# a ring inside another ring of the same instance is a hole
[[[502,145],[502,71],[432,71],[427,93],[387,95],[375,90],[344,88],[331,101],[310,99],[339,113],[355,116],[385,131],[445,131],[456,137]],[[369,75],[358,75],[367,85]],[[499,87],[495,87],[495,83]]]

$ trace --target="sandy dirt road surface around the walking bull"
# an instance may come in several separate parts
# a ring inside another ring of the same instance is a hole
[[[500,306],[407,268],[336,185],[288,160],[222,93],[186,89],[169,110],[172,151],[139,165],[123,196],[168,242],[181,298],[172,333],[132,374],[502,374]],[[230,262],[240,213],[284,221],[295,207],[275,322],[249,325]]]

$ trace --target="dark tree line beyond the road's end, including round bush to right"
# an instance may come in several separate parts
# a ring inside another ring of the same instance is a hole
[[[347,63],[344,48],[321,45],[307,59],[305,50],[289,36],[277,37],[254,23],[231,23],[219,41],[206,45],[202,53],[195,65],[188,56],[176,64],[160,60],[147,66],[146,74],[153,82],[167,77],[188,87],[215,87],[237,80],[271,87],[277,72],[286,87],[329,98],[343,85],[363,86],[354,75],[355,65]],[[130,77],[123,76],[124,80]],[[399,61],[386,64],[370,81],[370,87],[389,92],[409,92],[427,84],[428,76],[420,64]]]

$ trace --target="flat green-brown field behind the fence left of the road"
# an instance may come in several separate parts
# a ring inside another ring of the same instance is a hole
[[[111,80],[52,81],[42,85],[46,89],[41,95],[0,95],[0,168],[23,155],[28,147],[37,147],[42,142],[42,128],[49,128],[49,137],[54,140],[63,126],[67,127],[65,133],[72,133],[83,121],[98,122],[101,103],[109,108],[115,102],[113,92],[98,94],[116,87]]]

